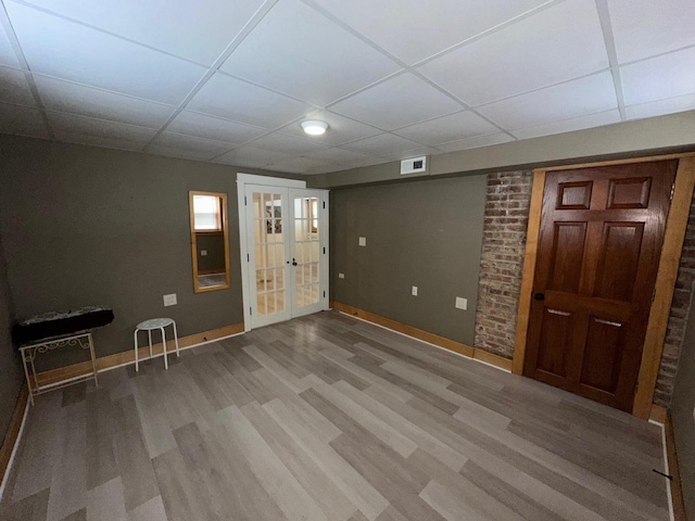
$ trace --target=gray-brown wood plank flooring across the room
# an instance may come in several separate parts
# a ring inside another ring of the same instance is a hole
[[[39,396],[2,520],[667,520],[658,427],[327,312]]]

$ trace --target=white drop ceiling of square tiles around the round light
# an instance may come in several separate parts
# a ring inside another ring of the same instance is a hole
[[[320,174],[695,109],[693,0],[0,2],[3,134]]]

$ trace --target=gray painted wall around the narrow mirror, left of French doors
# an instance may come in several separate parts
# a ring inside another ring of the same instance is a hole
[[[98,356],[132,348],[135,326],[148,318],[174,318],[179,335],[243,321],[237,168],[10,136],[0,136],[0,165],[17,318],[111,306],[114,322],[94,333]],[[228,194],[229,289],[193,293],[189,190]],[[164,307],[167,293],[177,306]]]

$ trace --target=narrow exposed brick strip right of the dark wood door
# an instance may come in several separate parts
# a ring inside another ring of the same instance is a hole
[[[691,214],[687,218],[687,228],[683,241],[681,263],[675,279],[675,291],[671,302],[669,323],[664,342],[664,355],[659,367],[659,376],[654,392],[654,403],[668,407],[673,394],[673,381],[678,370],[678,360],[681,356],[681,347],[685,336],[687,316],[693,302],[695,289],[695,198],[691,203]]]

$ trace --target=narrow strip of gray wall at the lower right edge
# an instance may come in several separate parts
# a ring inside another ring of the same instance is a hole
[[[671,420],[678,452],[687,519],[695,520],[695,306],[691,306],[687,328],[671,398]]]

